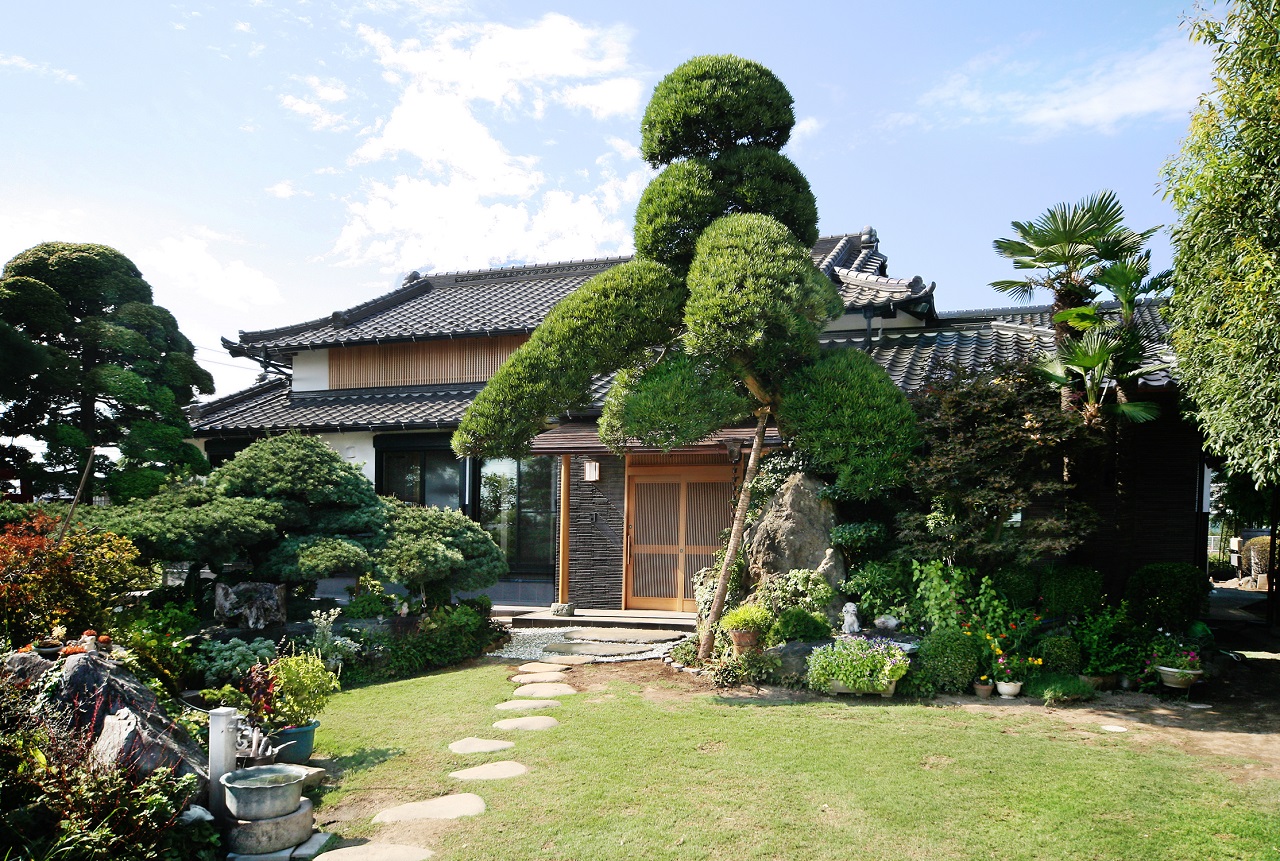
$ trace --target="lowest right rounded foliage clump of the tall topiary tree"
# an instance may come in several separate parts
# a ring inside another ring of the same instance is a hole
[[[860,349],[823,353],[785,386],[778,427],[823,471],[841,499],[874,499],[906,480],[919,441],[915,413]]]

